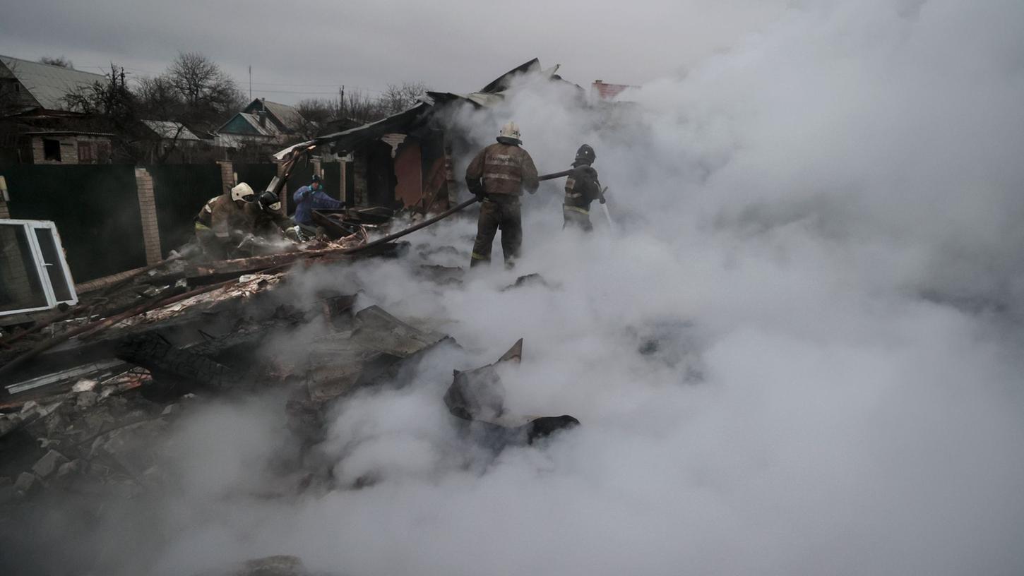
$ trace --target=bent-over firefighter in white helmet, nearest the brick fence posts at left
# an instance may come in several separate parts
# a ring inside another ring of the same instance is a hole
[[[207,201],[196,216],[196,239],[210,260],[227,258],[228,251],[252,231],[246,206],[256,201],[245,182]]]

